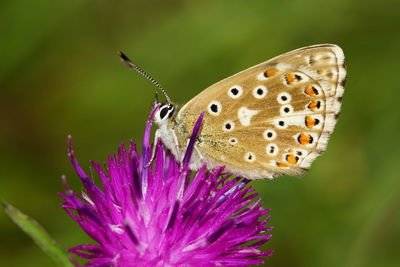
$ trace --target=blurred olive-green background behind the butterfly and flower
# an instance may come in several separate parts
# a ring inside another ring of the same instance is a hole
[[[304,178],[253,184],[272,209],[265,266],[400,266],[400,4],[366,1],[0,3],[0,198],[68,248],[89,239],[60,208],[60,176],[142,138],[155,88],[188,101],[229,75],[302,46],[336,43],[348,82],[328,151]],[[1,266],[53,266],[0,212]]]

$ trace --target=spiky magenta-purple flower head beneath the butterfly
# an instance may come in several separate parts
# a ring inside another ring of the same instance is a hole
[[[223,167],[197,173],[188,169],[202,116],[197,121],[180,164],[157,144],[149,168],[151,122],[146,125],[142,155],[131,142],[109,156],[102,170],[92,162],[102,184],[96,186],[69,157],[86,192],[69,189],[60,196],[65,211],[98,244],[69,249],[89,259],[85,266],[248,266],[263,263],[271,251],[260,246],[270,239],[269,210],[262,208],[248,180],[228,179]]]

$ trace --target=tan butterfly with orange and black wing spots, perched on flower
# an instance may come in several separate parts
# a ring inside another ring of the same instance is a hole
[[[250,67],[200,92],[182,107],[167,98],[155,114],[161,138],[178,160],[204,112],[190,168],[225,166],[247,179],[301,175],[326,150],[339,116],[346,69],[342,49],[313,45]]]

